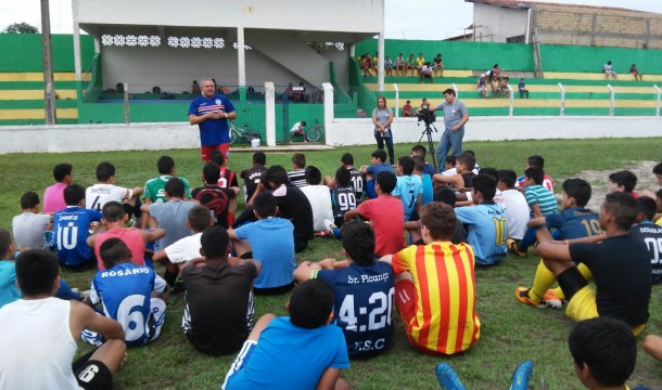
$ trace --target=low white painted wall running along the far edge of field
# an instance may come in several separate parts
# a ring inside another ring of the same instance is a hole
[[[437,125],[442,128],[441,123]],[[471,117],[464,141],[662,136],[661,126],[660,117]],[[415,118],[396,119],[394,141],[417,142],[422,130],[422,127],[417,127]],[[123,142],[109,143],[109,133]],[[327,144],[332,146],[374,144],[370,119],[328,120],[326,135]],[[436,147],[441,133],[432,135]],[[199,146],[198,127],[187,122],[0,128],[0,154],[158,151]]]

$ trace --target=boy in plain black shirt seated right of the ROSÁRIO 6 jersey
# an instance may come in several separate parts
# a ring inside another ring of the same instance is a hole
[[[204,258],[181,269],[187,290],[182,328],[200,352],[235,352],[253,327],[253,280],[262,263],[229,257],[230,238],[222,226],[205,230],[200,243]]]

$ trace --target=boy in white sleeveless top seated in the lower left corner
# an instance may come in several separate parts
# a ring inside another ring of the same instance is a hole
[[[113,374],[126,360],[122,325],[87,304],[53,297],[60,269],[50,251],[21,253],[16,280],[23,299],[0,309],[2,387],[112,389]],[[99,333],[106,341],[72,364],[82,329]]]

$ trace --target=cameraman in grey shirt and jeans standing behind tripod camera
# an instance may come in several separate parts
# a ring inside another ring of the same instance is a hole
[[[444,133],[436,147],[437,161],[444,161],[448,151],[453,148],[453,154],[459,156],[462,154],[462,138],[464,138],[464,125],[469,121],[469,112],[464,103],[459,101],[455,95],[455,90],[448,88],[444,91],[445,102],[431,108],[431,112],[444,112]],[[419,108],[420,113],[423,108]]]

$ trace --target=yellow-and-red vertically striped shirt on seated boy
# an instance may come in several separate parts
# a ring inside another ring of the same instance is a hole
[[[454,354],[479,339],[473,268],[473,249],[467,244],[413,245],[393,256],[393,272],[410,272],[416,286],[417,314],[405,324],[413,342]]]

